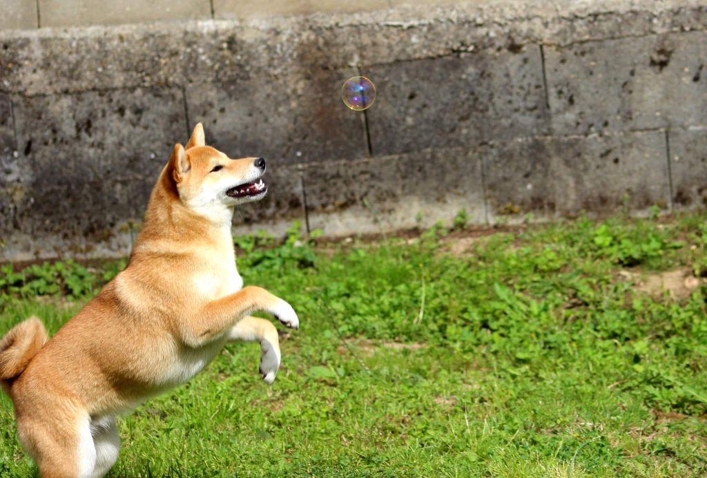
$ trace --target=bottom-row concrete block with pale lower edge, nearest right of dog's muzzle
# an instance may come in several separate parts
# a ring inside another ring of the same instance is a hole
[[[464,148],[306,165],[310,226],[327,235],[431,226],[465,209],[484,223],[481,161]]]

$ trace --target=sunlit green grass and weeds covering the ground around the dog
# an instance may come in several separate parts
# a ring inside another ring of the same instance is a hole
[[[707,288],[650,295],[638,278],[703,274],[706,219],[240,238],[246,284],[302,324],[274,385],[257,345],[229,344],[119,422],[110,476],[704,476]],[[0,333],[30,314],[57,330],[118,269],[2,269]],[[0,475],[36,473],[6,396],[0,434]]]

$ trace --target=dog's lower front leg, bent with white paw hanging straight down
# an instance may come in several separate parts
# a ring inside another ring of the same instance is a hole
[[[260,377],[266,383],[273,383],[280,368],[281,354],[280,339],[272,322],[247,315],[231,328],[228,339],[260,342]]]

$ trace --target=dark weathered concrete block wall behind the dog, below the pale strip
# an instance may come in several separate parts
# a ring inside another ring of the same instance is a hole
[[[40,6],[41,8],[41,6]],[[378,100],[341,104],[361,72]],[[476,1],[0,32],[0,260],[121,255],[204,122],[269,161],[238,231],[707,200],[707,6]]]

